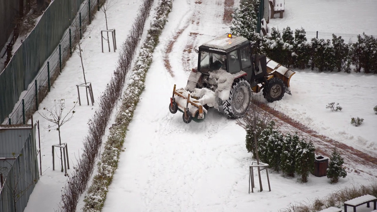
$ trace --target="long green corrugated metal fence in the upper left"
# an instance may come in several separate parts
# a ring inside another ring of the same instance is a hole
[[[84,0],[54,0],[15,51],[8,66],[0,73],[0,123],[12,113],[13,108],[17,107],[15,104],[21,92],[28,89],[38,72],[45,66],[46,60],[54,55],[67,28],[76,21],[80,6],[87,7],[82,4],[83,2]],[[88,11],[87,8],[85,9]],[[54,55],[54,60],[56,59],[59,61]],[[50,65],[55,67],[55,64],[50,63]],[[47,79],[43,80],[47,81]],[[16,124],[15,120],[12,122]]]

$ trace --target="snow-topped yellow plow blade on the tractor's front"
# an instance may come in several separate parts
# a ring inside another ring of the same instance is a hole
[[[267,73],[271,73],[274,75],[274,77],[277,77],[283,80],[284,85],[285,85],[285,92],[289,95],[292,95],[291,89],[289,87],[289,81],[291,80],[292,75],[295,74],[296,72],[269,59],[267,61]]]

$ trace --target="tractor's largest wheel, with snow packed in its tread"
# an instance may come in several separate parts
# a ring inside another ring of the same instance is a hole
[[[222,103],[224,113],[230,118],[242,117],[250,106],[251,95],[250,84],[246,80],[234,80],[229,99]]]

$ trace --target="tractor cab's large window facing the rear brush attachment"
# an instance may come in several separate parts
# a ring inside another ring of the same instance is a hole
[[[209,71],[218,69],[225,70],[225,55],[215,54],[212,52],[200,52],[200,72],[208,74]]]

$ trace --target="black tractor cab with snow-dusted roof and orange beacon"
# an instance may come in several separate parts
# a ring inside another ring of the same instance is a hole
[[[198,71],[204,75],[209,75],[209,72],[218,69],[231,74],[242,71],[241,75],[244,75],[247,81],[265,75],[262,73],[262,68],[259,69],[259,64],[253,61],[250,41],[244,37],[225,34],[202,44],[196,52]]]

